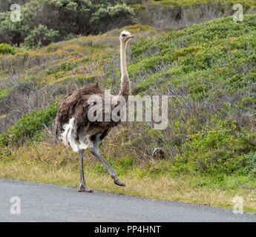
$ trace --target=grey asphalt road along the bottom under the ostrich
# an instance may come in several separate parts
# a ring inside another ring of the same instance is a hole
[[[17,199],[20,199],[20,214]],[[14,206],[13,206],[14,205]],[[255,221],[232,210],[0,178],[0,221]]]

